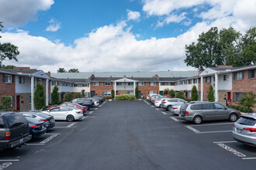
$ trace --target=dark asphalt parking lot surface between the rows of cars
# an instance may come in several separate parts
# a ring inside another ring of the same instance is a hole
[[[195,125],[147,101],[106,102],[22,148],[2,150],[0,169],[254,169],[256,148],[233,123]]]

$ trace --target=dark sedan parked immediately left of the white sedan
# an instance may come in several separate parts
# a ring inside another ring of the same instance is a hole
[[[44,114],[42,112],[20,112],[25,117],[31,117],[34,119],[37,119],[38,121],[44,121],[47,130],[50,128],[54,128],[55,126],[55,120],[53,116],[50,116],[49,114]]]

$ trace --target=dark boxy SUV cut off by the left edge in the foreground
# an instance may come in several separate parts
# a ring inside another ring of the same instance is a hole
[[[16,112],[0,113],[0,148],[15,148],[32,138],[29,122]]]

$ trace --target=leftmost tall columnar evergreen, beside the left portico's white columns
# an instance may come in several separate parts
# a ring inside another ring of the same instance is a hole
[[[36,90],[34,92],[34,104],[36,110],[40,110],[45,106],[43,83],[36,83]]]

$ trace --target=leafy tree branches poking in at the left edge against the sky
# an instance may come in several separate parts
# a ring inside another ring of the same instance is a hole
[[[0,22],[0,32],[2,31],[2,22]],[[2,38],[2,36],[0,36]],[[7,59],[14,59],[18,61],[17,56],[19,55],[19,50],[17,46],[12,45],[10,42],[1,43],[0,42],[0,67],[2,66],[2,61]]]

